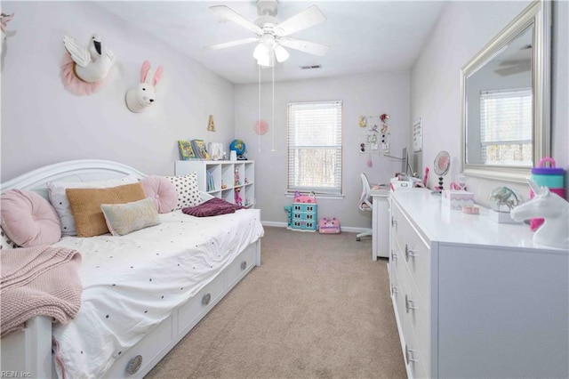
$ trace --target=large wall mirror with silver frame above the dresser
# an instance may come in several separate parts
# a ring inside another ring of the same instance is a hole
[[[462,69],[462,171],[525,181],[550,155],[551,4],[536,0]]]

